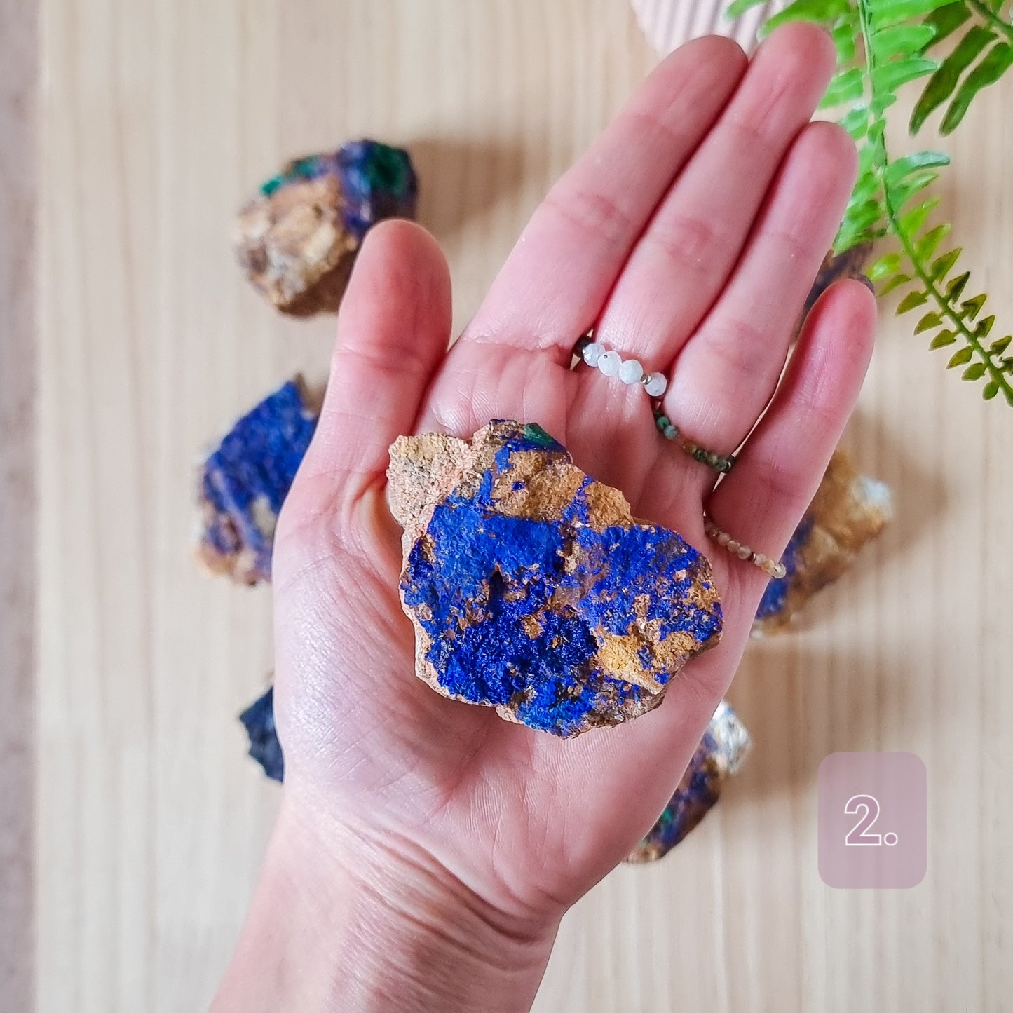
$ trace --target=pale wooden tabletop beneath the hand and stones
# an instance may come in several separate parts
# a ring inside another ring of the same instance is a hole
[[[0,6],[0,46],[21,60],[0,58],[0,265],[17,279],[0,290],[0,1006],[181,1013],[228,959],[278,800],[234,718],[270,666],[269,592],[191,561],[194,464],[282,378],[319,375],[332,326],[284,320],[246,287],[232,212],[286,156],[363,134],[405,144],[460,325],[654,57],[625,0],[42,0],[33,288],[11,274],[30,230],[9,227],[30,224],[30,187],[15,202],[8,174],[31,180],[30,4]],[[1011,101],[1013,80],[978,102],[943,186],[1007,327]],[[849,435],[893,486],[897,523],[797,634],[751,646],[731,697],[754,755],[675,854],[617,870],[566,919],[542,1013],[1011,1008],[1013,410],[983,404],[908,328],[883,320]],[[32,476],[30,357],[11,349],[34,335]],[[15,634],[36,579],[33,664]],[[832,890],[816,768],[874,749],[928,765],[929,873],[906,891]]]

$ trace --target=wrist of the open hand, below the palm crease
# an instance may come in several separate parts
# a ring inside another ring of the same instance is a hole
[[[324,831],[290,801],[215,1013],[530,1008],[557,922],[519,921],[411,842]]]

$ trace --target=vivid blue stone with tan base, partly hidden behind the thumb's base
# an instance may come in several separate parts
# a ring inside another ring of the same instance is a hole
[[[319,405],[300,377],[243,415],[200,476],[199,554],[240,583],[270,579],[275,524],[316,427]]]

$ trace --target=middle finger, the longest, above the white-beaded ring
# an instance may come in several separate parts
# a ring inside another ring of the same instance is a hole
[[[830,37],[791,24],[757,51],[717,126],[634,248],[596,340],[666,370],[727,281],[778,166],[834,70]]]

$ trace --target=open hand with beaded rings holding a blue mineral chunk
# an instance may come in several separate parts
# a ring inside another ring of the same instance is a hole
[[[221,1008],[240,965],[282,960],[265,944],[282,918],[303,940],[282,961],[303,999],[263,1008],[526,1009],[562,913],[664,808],[768,579],[705,538],[704,509],[776,558],[871,350],[872,296],[839,284],[779,382],[854,179],[847,135],[808,122],[833,66],[829,40],[800,25],[749,65],[721,38],[675,53],[553,188],[449,354],[435,242],[402,222],[370,233],[277,533],[285,801]],[[657,434],[639,386],[569,369],[591,327],[671,378],[666,412],[695,442],[727,454],[749,436],[716,490]],[[560,739],[412,675],[387,449],[399,434],[466,437],[496,417],[539,422],[635,516],[711,560],[722,640],[635,721]]]

